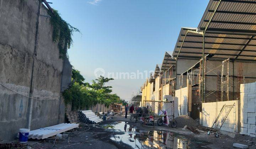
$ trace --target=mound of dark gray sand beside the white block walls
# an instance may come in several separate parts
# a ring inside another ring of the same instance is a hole
[[[187,115],[180,115],[175,118],[177,121],[177,127],[184,127],[185,125],[187,126],[197,126],[199,125],[198,121],[194,120],[190,116]]]

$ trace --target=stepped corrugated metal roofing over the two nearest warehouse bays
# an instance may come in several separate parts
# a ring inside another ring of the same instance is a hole
[[[256,1],[210,0],[198,25],[197,31],[205,33],[205,54],[214,54],[212,58],[231,60],[252,60],[256,52]],[[195,29],[191,29],[195,31]],[[202,57],[202,35],[181,28],[173,56],[184,58]],[[185,35],[187,36],[185,38]],[[185,40],[184,40],[185,39]],[[182,42],[184,43],[182,45]],[[182,45],[182,48],[181,48]]]

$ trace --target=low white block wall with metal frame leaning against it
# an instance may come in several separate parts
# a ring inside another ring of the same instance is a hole
[[[217,129],[220,128],[222,131],[227,132],[239,132],[240,124],[239,124],[239,115],[240,115],[240,101],[239,100],[231,100],[231,101],[220,101],[220,102],[212,102],[212,103],[202,103],[202,112],[200,112],[200,124],[206,127],[212,127],[215,119],[220,113],[223,105],[233,105],[235,106],[231,109],[228,117],[223,123],[222,128],[222,121],[225,115],[228,113],[230,106],[224,107],[224,111],[220,115],[217,123],[213,126]],[[217,124],[219,124],[217,126]]]

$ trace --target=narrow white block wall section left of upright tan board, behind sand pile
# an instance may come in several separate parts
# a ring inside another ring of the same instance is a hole
[[[188,115],[188,89],[187,87],[175,90],[175,96],[178,98],[178,114]]]

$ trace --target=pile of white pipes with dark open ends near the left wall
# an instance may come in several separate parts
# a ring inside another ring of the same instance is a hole
[[[79,120],[87,124],[96,124],[102,120],[102,118],[95,115],[92,110],[78,111]]]

